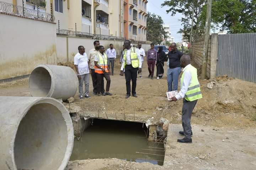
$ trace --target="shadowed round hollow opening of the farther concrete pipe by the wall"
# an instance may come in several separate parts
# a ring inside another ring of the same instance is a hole
[[[52,77],[47,69],[38,67],[30,74],[28,84],[32,96],[46,97],[50,92]]]

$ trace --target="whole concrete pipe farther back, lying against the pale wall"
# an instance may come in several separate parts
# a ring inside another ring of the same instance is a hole
[[[53,97],[65,101],[75,96],[78,78],[70,67],[39,65],[31,72],[28,85],[33,97]]]

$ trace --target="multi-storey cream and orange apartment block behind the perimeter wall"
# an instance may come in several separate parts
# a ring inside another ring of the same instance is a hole
[[[147,0],[0,0],[53,14],[56,29],[146,40]]]

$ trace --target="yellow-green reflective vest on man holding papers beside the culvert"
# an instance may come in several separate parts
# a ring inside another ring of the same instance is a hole
[[[199,87],[199,81],[197,79],[197,69],[194,68],[192,65],[188,66],[185,70],[183,70],[183,74],[181,76],[181,86],[186,72],[190,72],[191,74],[191,84],[188,86],[188,90],[185,94],[185,99],[187,101],[194,101],[202,98],[203,96]]]

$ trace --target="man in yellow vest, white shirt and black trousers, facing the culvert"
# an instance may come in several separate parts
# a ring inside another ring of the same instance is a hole
[[[125,78],[126,78],[126,97],[130,97],[130,80],[132,80],[132,95],[137,97],[136,94],[136,81],[137,81],[137,72],[141,72],[142,61],[140,53],[136,47],[130,45],[130,40],[124,41],[124,55],[122,60],[122,67],[120,75],[123,76],[123,69],[125,69]]]

